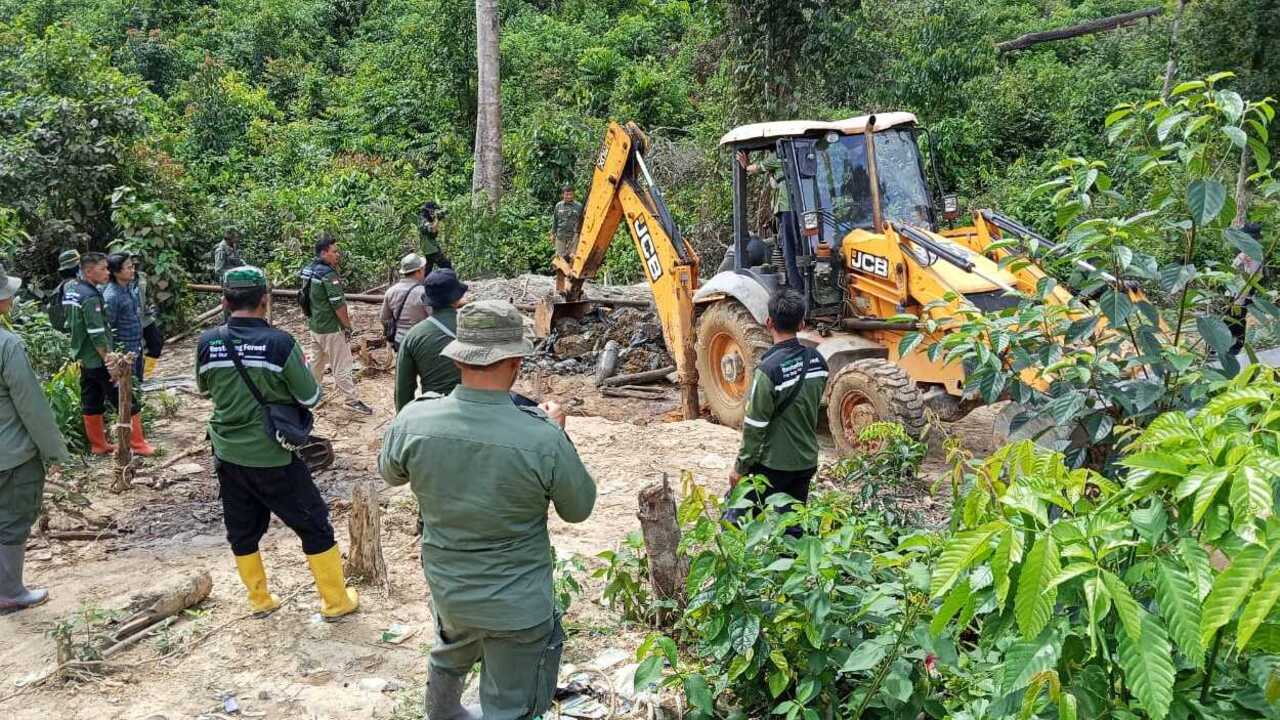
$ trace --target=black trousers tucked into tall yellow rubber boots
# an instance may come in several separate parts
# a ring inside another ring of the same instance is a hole
[[[294,457],[282,468],[246,468],[214,457],[218,496],[223,501],[227,542],[236,555],[257,552],[271,514],[302,539],[302,552],[317,555],[337,544],[329,506],[311,480],[306,462]]]

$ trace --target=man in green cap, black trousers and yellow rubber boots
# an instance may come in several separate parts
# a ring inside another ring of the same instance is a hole
[[[274,514],[302,541],[320,594],[320,614],[338,618],[355,612],[358,598],[342,575],[329,507],[306,462],[266,434],[265,410],[248,387],[252,382],[262,402],[273,405],[314,407],[320,401],[320,386],[302,360],[302,348],[289,333],[266,323],[270,297],[262,270],[228,270],[223,306],[230,319],[205,331],[196,348],[196,383],[214,402],[209,439],[227,541],[248,591],[250,607],[260,616],[270,614],[280,602],[268,591],[259,542]],[[233,352],[248,380],[236,368]]]

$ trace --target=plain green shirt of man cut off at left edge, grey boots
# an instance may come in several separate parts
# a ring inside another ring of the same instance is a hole
[[[22,340],[0,328],[0,471],[37,455],[45,462],[61,462],[67,445]]]

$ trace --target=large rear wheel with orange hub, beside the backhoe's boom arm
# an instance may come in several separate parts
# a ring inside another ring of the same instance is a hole
[[[769,332],[746,307],[722,300],[698,320],[698,386],[722,425],[742,427],[751,378],[773,345]]]

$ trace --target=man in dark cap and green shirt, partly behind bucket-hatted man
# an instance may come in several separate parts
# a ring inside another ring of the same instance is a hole
[[[443,355],[458,327],[457,307],[467,286],[451,270],[434,270],[422,283],[422,302],[431,309],[426,320],[413,325],[404,336],[396,356],[396,411],[408,405],[417,389],[448,395],[462,375],[458,366]]]

